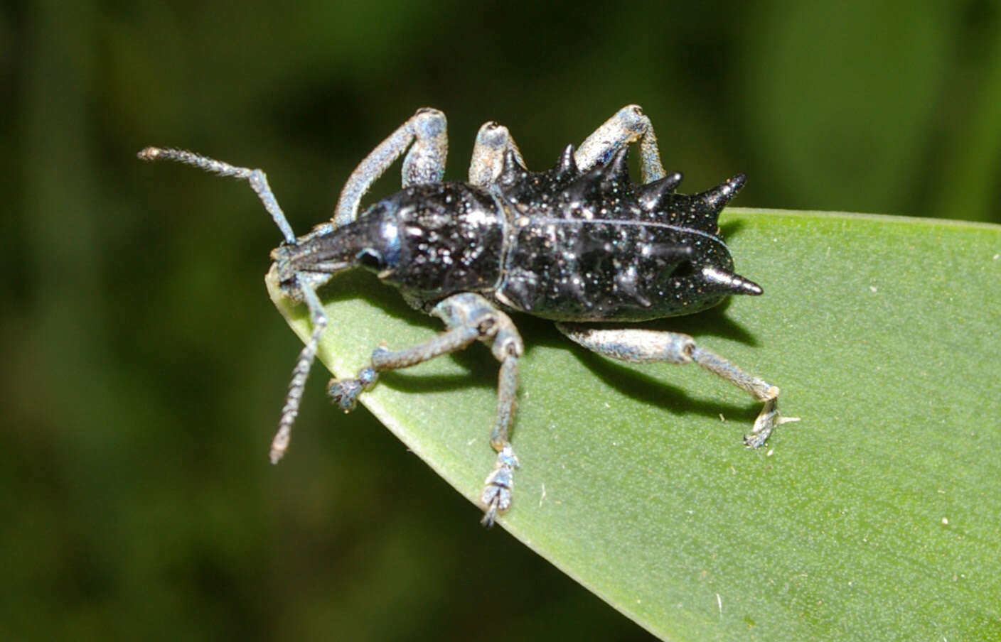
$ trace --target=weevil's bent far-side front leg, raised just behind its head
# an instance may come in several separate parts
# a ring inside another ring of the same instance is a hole
[[[448,155],[444,114],[430,107],[421,107],[365,156],[340,192],[333,213],[334,227],[350,223],[358,217],[361,197],[408,147],[409,151],[403,158],[403,187],[440,182]]]

